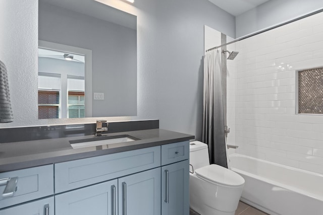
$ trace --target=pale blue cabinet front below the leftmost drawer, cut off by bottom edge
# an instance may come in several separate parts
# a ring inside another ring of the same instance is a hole
[[[21,204],[0,210],[1,215],[53,215],[54,197]]]

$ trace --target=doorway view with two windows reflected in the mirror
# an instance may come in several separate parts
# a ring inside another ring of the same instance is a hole
[[[38,118],[85,117],[85,57],[38,49]]]

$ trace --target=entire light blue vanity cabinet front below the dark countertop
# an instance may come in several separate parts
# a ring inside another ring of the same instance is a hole
[[[0,214],[189,215],[188,159],[183,141],[0,173],[19,177]]]

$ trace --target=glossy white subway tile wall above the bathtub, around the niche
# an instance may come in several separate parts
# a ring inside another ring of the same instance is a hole
[[[323,66],[323,14],[230,45],[228,144],[323,174],[323,114],[296,114],[296,70]],[[228,46],[228,50],[229,46]]]

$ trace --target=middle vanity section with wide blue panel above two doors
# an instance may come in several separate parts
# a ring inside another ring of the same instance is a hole
[[[55,164],[55,193],[56,215],[160,215],[160,146]]]

